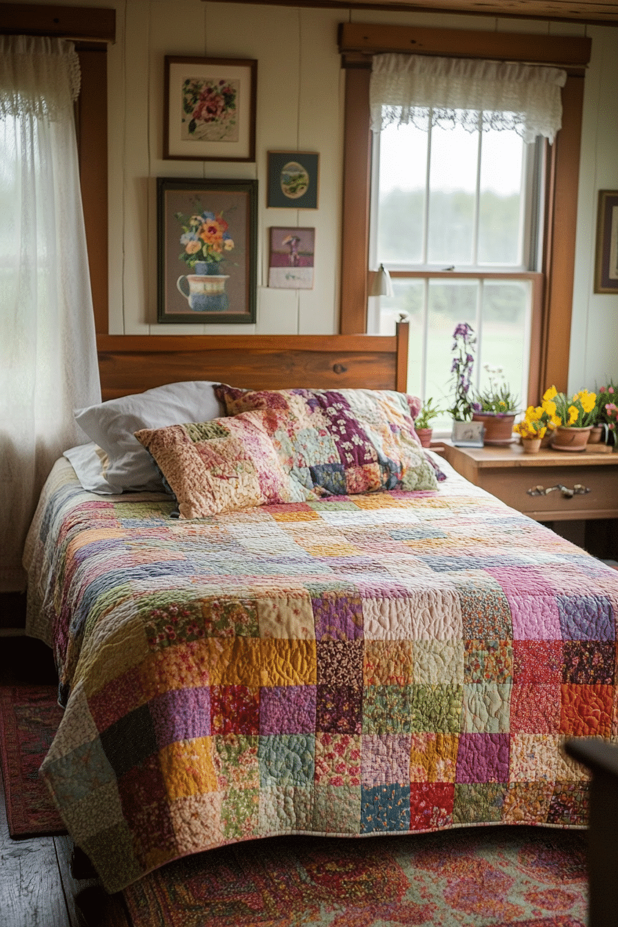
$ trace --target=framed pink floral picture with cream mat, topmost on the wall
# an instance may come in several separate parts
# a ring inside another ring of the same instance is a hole
[[[255,161],[258,62],[165,58],[163,158]]]

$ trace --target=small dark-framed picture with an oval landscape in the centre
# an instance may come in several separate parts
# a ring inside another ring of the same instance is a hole
[[[269,151],[267,207],[317,210],[319,162],[315,151]]]

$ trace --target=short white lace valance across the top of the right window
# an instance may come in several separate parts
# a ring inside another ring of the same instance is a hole
[[[412,122],[469,132],[511,129],[524,142],[561,127],[560,88],[566,71],[536,65],[425,55],[374,55],[370,86],[372,130]]]

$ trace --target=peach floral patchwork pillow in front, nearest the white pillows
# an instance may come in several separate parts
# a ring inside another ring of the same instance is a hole
[[[143,428],[135,438],[150,452],[176,496],[181,518],[233,512],[299,497],[279,463],[269,437],[270,412],[248,412],[167,428]]]

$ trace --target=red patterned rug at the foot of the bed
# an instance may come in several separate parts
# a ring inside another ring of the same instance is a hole
[[[280,837],[124,890],[133,927],[584,927],[586,833],[532,827]]]

